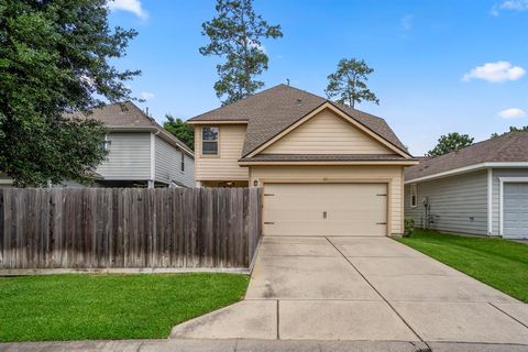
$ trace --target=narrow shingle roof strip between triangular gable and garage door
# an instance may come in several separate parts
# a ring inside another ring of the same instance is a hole
[[[408,161],[399,154],[258,154],[239,162],[385,162]]]

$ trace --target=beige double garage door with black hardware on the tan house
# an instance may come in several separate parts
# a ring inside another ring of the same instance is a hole
[[[264,235],[387,234],[386,184],[265,184]]]

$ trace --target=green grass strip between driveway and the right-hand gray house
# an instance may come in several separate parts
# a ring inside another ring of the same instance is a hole
[[[436,231],[417,231],[411,238],[397,241],[528,302],[526,244]]]

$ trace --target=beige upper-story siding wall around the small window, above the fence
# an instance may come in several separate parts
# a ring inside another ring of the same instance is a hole
[[[201,155],[201,127],[195,127],[196,180],[248,180],[248,167],[239,166],[245,140],[245,124],[219,128],[218,155]]]

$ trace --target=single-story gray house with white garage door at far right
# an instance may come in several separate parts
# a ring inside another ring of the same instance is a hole
[[[528,133],[421,158],[405,172],[405,215],[419,228],[528,238]]]

